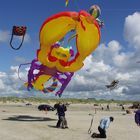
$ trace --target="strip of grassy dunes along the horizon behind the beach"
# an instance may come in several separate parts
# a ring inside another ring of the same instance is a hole
[[[56,102],[67,102],[67,103],[75,103],[75,104],[87,104],[87,103],[95,103],[95,104],[101,104],[101,103],[117,103],[117,104],[131,104],[134,101],[125,101],[125,100],[105,100],[105,99],[74,99],[74,98],[59,98],[59,99],[48,99],[48,98],[36,98],[36,97],[30,97],[30,98],[19,98],[19,97],[0,97],[0,102],[7,103],[7,102],[13,102],[13,103],[56,103]]]

